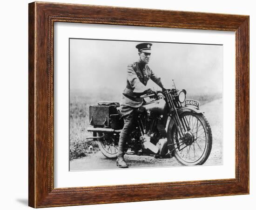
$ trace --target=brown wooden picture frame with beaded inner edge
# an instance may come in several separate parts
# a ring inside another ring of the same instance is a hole
[[[249,16],[33,2],[29,4],[29,206],[34,208],[249,194]],[[54,188],[54,22],[236,33],[236,177]]]

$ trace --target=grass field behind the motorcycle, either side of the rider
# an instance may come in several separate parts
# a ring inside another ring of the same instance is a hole
[[[106,92],[108,92],[108,94],[106,94]],[[221,94],[216,93],[208,95],[187,95],[187,98],[199,101],[200,105],[207,104],[221,97]],[[92,133],[87,132],[87,127],[89,126],[89,106],[97,104],[98,101],[120,101],[120,98],[121,93],[115,92],[113,90],[104,90],[104,93],[98,91],[96,94],[95,91],[86,93],[81,91],[70,91],[70,159],[84,157],[89,153],[98,151],[97,144],[94,142],[85,142],[86,137],[92,135]]]

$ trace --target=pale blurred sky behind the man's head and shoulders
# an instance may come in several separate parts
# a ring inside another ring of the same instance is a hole
[[[127,65],[138,60],[143,41],[70,39],[70,91],[113,90],[126,85]],[[193,93],[222,92],[222,46],[151,42],[148,66],[166,88]],[[158,88],[152,81],[148,87]]]

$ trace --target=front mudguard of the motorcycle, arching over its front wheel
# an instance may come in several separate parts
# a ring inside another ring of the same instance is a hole
[[[203,112],[201,112],[200,110],[195,109],[194,107],[188,107],[188,106],[178,109],[177,112],[178,112],[178,115],[181,115],[183,112],[194,112],[194,113],[198,113],[198,114],[203,114]],[[171,135],[172,128],[175,125],[174,120],[172,118],[169,118],[167,125],[168,125],[168,127],[167,127],[167,145],[168,145],[168,149],[171,151],[173,146],[171,145],[172,142],[171,142],[170,135]]]

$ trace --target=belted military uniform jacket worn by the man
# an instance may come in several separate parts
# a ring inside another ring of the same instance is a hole
[[[157,77],[147,64],[135,62],[128,65],[127,84],[121,97],[121,105],[140,107],[143,99],[139,94],[147,90],[148,79],[152,79],[161,88],[163,87],[161,78]]]

